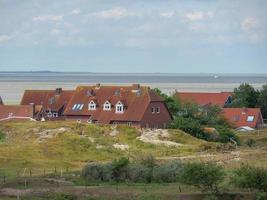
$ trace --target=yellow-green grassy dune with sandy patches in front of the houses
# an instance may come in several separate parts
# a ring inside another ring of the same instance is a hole
[[[157,158],[185,156],[202,151],[213,143],[196,139],[182,131],[169,131],[169,140],[179,147],[155,145],[137,139],[140,131],[127,126],[77,124],[72,122],[5,122],[0,124],[0,172],[32,173],[80,169],[90,161],[108,161],[120,156],[135,158],[152,154]],[[115,133],[115,136],[112,135]],[[114,144],[128,145],[128,150]]]

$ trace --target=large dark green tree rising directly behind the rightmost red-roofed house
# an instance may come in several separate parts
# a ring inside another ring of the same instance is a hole
[[[259,91],[247,83],[234,89],[232,107],[255,108],[258,102]]]

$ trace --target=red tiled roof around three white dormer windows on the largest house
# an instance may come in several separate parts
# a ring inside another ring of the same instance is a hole
[[[96,110],[88,110],[88,104],[97,102]],[[111,110],[103,110],[104,103],[111,103]],[[133,86],[79,86],[69,101],[64,115],[90,116],[99,123],[112,121],[141,121],[150,102],[163,101],[149,87]],[[125,107],[123,113],[115,113],[115,106],[121,102]],[[73,110],[74,106],[82,105],[80,109]]]

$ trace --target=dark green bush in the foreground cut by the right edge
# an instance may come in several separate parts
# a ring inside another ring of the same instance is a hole
[[[240,188],[257,189],[267,192],[267,170],[260,167],[243,165],[234,171],[231,182]]]

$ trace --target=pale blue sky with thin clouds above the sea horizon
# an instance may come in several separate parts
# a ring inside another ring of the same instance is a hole
[[[0,0],[0,71],[267,73],[266,0]]]

